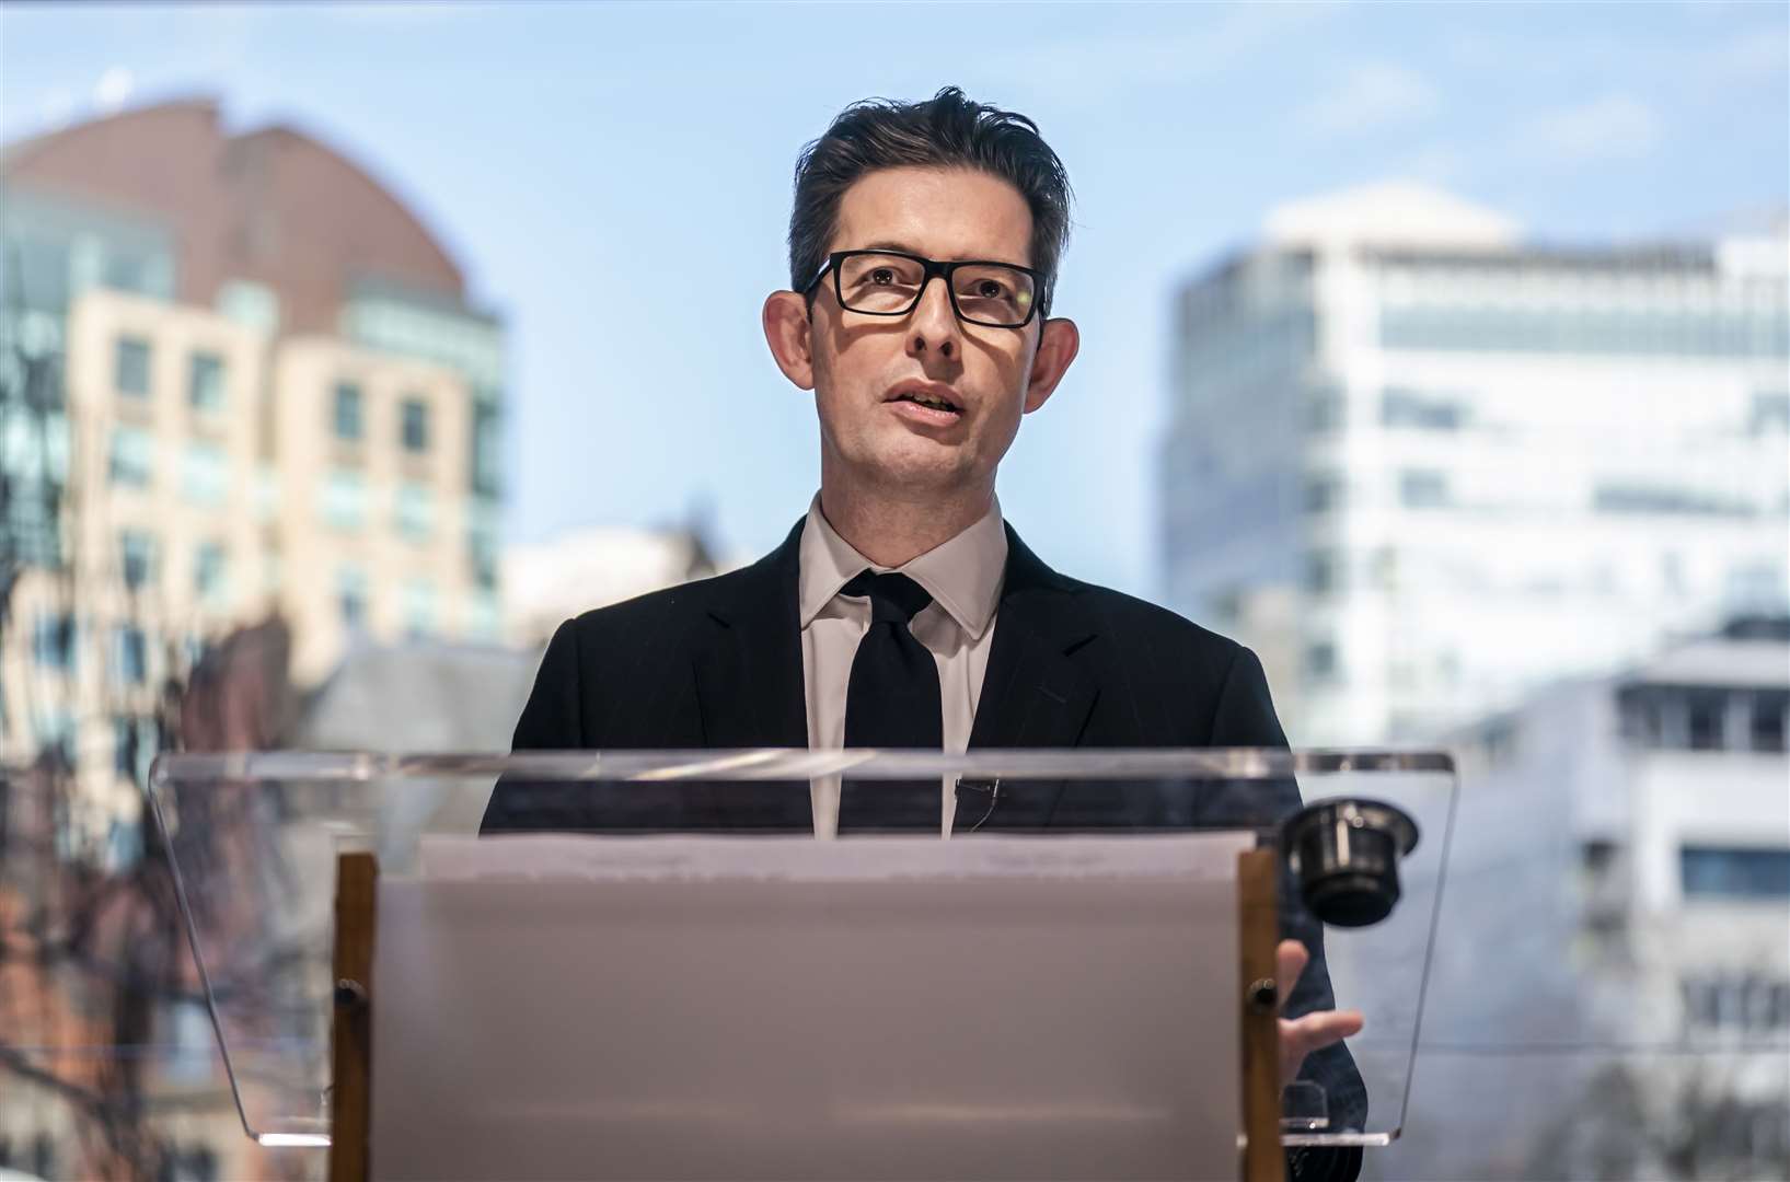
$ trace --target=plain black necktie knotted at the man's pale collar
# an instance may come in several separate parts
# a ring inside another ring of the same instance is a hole
[[[870,595],[870,628],[852,656],[845,687],[847,747],[945,746],[938,663],[913,638],[909,621],[933,597],[906,574],[865,570],[841,595]],[[840,787],[840,833],[852,830],[938,832],[938,780],[847,780]]]

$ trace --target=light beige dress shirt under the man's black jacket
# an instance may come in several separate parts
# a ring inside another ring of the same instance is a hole
[[[870,629],[870,599],[841,595],[840,588],[861,570],[899,570],[924,587],[933,603],[913,617],[909,628],[938,662],[938,692],[943,699],[945,751],[961,755],[970,746],[976,701],[988,671],[988,649],[1006,576],[1006,528],[1001,502],[958,536],[900,567],[879,567],[841,538],[820,511],[820,494],[807,506],[800,544],[802,692],[807,696],[807,746],[845,746],[845,687],[852,680],[857,642]],[[814,837],[840,832],[840,778],[823,776],[809,785],[814,805]],[[952,783],[940,783],[940,833],[950,837],[956,812]]]

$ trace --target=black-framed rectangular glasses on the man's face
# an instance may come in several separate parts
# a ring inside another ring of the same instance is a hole
[[[950,309],[967,324],[1022,329],[1042,304],[1044,274],[1017,263],[952,259],[942,263],[902,250],[834,250],[807,281],[802,295],[832,272],[840,308],[866,317],[906,317],[920,304],[925,284],[943,277]]]

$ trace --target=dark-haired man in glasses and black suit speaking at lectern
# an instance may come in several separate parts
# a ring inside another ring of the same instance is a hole
[[[863,102],[798,165],[771,356],[820,418],[820,494],[752,567],[589,612],[553,635],[517,749],[1285,746],[1255,654],[1058,574],[1001,519],[995,470],[1076,358],[1051,318],[1069,177],[1013,113],[956,88]],[[934,279],[938,283],[934,283]],[[1101,785],[657,785],[603,798],[499,783],[485,832],[931,832],[1190,821]],[[1283,805],[1296,805],[1285,789]],[[1307,939],[1321,955],[1312,932]],[[1282,942],[1282,1078],[1366,1094],[1321,960]],[[1285,989],[1283,989],[1285,992]],[[1351,1178],[1359,1152],[1294,1153]]]

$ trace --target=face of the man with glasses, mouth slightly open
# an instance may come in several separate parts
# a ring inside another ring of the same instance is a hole
[[[1019,190],[981,172],[874,172],[845,191],[829,249],[874,247],[1024,266],[1031,263],[1031,211]],[[829,274],[814,293],[809,356],[793,370],[775,336],[771,347],[791,381],[814,388],[823,481],[913,499],[993,486],[1020,415],[1044,404],[1074,356],[1072,343],[1061,356],[1065,331],[1074,334],[1069,322],[1045,329],[1038,317],[1024,329],[965,324],[943,279],[929,283],[906,317],[852,313],[840,308]],[[1040,356],[1047,333],[1053,343]],[[958,411],[902,399],[915,383],[943,393]]]

